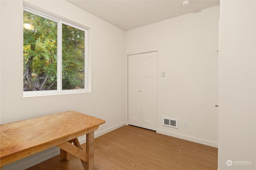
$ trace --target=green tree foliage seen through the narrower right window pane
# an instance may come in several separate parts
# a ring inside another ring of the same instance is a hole
[[[62,24],[62,90],[84,88],[84,31]]]

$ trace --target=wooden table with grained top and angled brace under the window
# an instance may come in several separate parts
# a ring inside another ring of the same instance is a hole
[[[80,158],[84,169],[94,167],[94,131],[104,120],[66,111],[0,125],[0,168],[51,147],[60,148],[60,159],[68,160],[69,153]],[[77,137],[86,134],[86,150]],[[72,143],[74,145],[72,145]]]

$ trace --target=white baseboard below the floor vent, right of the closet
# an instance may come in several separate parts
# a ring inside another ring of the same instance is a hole
[[[189,137],[189,136],[186,136],[186,135],[181,135],[181,134],[178,134],[178,133],[172,133],[172,132],[168,132],[168,131],[163,131],[163,130],[160,130],[160,129],[157,129],[156,133],[160,133],[160,134],[163,134],[163,135],[168,135],[168,136],[184,139],[184,140],[187,140],[187,141],[192,141],[192,142],[200,143],[200,144],[203,144],[203,145],[208,145],[210,147],[218,148],[218,143],[214,143],[212,141],[206,141],[204,139],[198,139],[198,138],[194,138],[194,137]]]

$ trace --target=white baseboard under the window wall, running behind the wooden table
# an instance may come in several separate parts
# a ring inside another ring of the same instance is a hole
[[[113,131],[115,129],[118,129],[119,127],[122,127],[125,125],[125,122],[120,123],[118,125],[115,125],[113,127],[110,127],[108,129],[105,129],[100,132],[94,133],[94,138],[100,137],[101,135],[104,135],[110,131]],[[86,143],[86,136],[82,136],[79,139],[79,143]],[[26,158],[23,158],[21,160],[17,160],[16,162],[12,162],[10,164],[7,164],[1,168],[1,170],[24,170],[31,166],[34,166],[36,164],[39,164],[40,162],[43,162],[47,159],[50,159],[56,155],[60,154],[60,149],[58,147],[52,147],[50,149],[44,150],[42,152],[36,153],[34,155],[28,156]]]

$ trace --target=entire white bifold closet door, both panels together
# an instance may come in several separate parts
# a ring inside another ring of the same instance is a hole
[[[128,55],[128,124],[156,130],[157,52]]]

